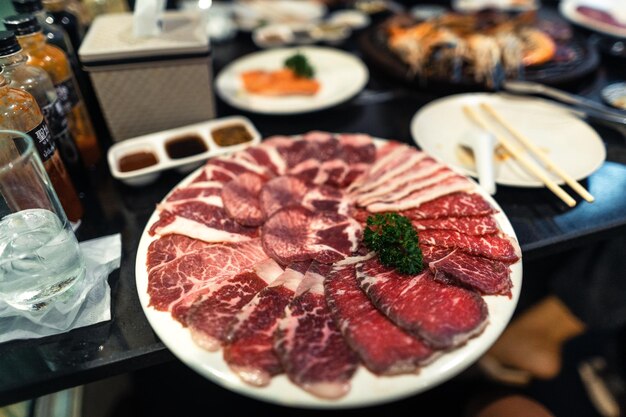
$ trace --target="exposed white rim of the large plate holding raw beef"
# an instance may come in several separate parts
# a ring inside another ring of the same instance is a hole
[[[177,187],[191,182],[197,172],[190,174]],[[513,227],[498,204],[480,187],[476,186],[476,188],[477,192],[499,210],[496,214],[496,220],[502,231],[515,238]],[[314,397],[292,384],[285,375],[274,377],[267,387],[257,388],[242,382],[237,375],[230,371],[222,358],[221,351],[208,352],[198,347],[191,339],[189,330],[174,320],[169,312],[157,311],[148,307],[150,297],[147,293],[146,260],[148,247],[155,240],[148,234],[148,230],[157,219],[158,216],[155,212],[148,220],[139,242],[135,275],[141,306],[158,337],[178,359],[207,379],[239,394],[283,406],[307,408],[365,407],[406,398],[445,382],[478,360],[496,341],[515,310],[522,286],[522,261],[520,260],[511,265],[511,280],[513,282],[511,298],[506,296],[484,297],[489,308],[489,324],[483,333],[471,339],[464,346],[441,355],[431,364],[424,366],[417,375],[380,377],[361,366],[352,379],[352,389],[339,400],[323,400]]]

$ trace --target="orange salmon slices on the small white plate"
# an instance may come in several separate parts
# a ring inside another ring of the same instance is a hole
[[[277,71],[246,71],[241,74],[241,79],[248,93],[264,96],[312,96],[320,89],[319,82],[298,77],[288,68]]]

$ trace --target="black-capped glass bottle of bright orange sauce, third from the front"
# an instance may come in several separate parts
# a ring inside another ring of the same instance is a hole
[[[4,26],[17,35],[20,46],[28,55],[27,62],[43,68],[50,75],[83,162],[86,166],[95,165],[100,159],[98,139],[65,54],[46,43],[37,19],[32,15],[6,17]]]

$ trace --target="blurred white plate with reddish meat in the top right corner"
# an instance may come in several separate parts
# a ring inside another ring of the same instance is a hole
[[[626,38],[624,0],[563,0],[559,10],[577,25],[605,35]]]

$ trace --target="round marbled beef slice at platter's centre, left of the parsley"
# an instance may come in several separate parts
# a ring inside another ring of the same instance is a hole
[[[351,217],[289,207],[265,222],[261,239],[265,252],[282,265],[306,260],[334,263],[357,249],[361,232]]]

